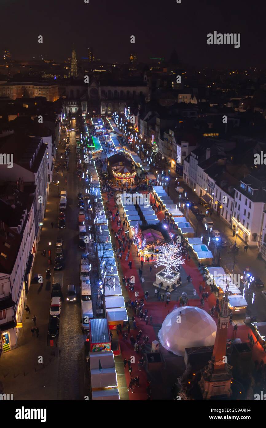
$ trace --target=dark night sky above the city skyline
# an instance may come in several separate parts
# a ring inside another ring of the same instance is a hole
[[[0,52],[13,59],[61,61],[75,42],[78,59],[88,46],[107,62],[128,61],[132,50],[138,61],[167,59],[175,48],[184,65],[266,68],[265,0],[0,0],[0,15]],[[208,46],[215,30],[240,33],[240,48]]]

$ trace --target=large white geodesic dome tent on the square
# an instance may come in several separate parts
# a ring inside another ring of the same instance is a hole
[[[165,349],[184,357],[185,348],[214,345],[216,330],[216,322],[203,309],[181,306],[164,319],[158,338]]]

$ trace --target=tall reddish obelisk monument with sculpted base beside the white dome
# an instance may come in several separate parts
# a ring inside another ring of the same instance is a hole
[[[232,394],[232,374],[226,357],[227,330],[229,324],[228,309],[228,287],[225,289],[225,298],[221,303],[213,355],[208,365],[202,369],[202,378],[199,386],[202,390],[203,399],[229,398]]]

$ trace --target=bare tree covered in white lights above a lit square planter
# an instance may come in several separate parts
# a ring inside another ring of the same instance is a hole
[[[155,266],[165,266],[167,274],[171,273],[172,270],[177,270],[179,265],[184,264],[184,257],[182,256],[182,248],[178,247],[177,243],[171,242],[160,247],[160,255]]]

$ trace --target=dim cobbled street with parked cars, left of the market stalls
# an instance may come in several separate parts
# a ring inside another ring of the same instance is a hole
[[[74,127],[74,124],[72,125]],[[65,134],[62,134],[65,137]],[[78,400],[84,399],[84,338],[80,327],[80,297],[75,303],[67,303],[67,285],[75,284],[79,291],[78,250],[78,208],[76,175],[75,132],[70,135],[70,171],[54,170],[55,184],[50,184],[50,194],[44,218],[41,240],[38,245],[32,278],[39,273],[44,277],[43,284],[32,281],[27,301],[31,314],[24,312],[23,328],[20,331],[18,347],[1,356],[0,377],[3,378],[5,392],[13,393],[14,400]],[[61,162],[63,148],[59,145],[57,164]],[[57,185],[57,181],[59,184]],[[59,187],[59,188],[58,188]],[[58,229],[59,193],[67,189],[66,228]],[[53,228],[51,222],[54,223]],[[52,262],[55,257],[56,239],[63,238],[64,264],[55,273],[55,280],[62,286],[63,298],[60,317],[59,336],[50,345],[48,321],[53,280],[45,278],[48,267],[48,249],[51,242]],[[46,257],[41,256],[46,250]],[[37,318],[40,336],[32,337],[32,316]],[[37,345],[38,344],[38,345]],[[39,363],[39,357],[43,362]]]

